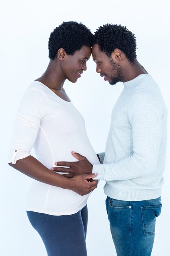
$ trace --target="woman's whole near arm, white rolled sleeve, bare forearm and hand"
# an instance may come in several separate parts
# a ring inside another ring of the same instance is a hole
[[[86,180],[91,178],[91,174],[67,178],[49,170],[31,156],[31,148],[37,138],[41,121],[46,118],[49,109],[48,98],[42,91],[31,89],[24,94],[13,129],[9,165],[40,182],[85,195],[97,187],[97,182]]]

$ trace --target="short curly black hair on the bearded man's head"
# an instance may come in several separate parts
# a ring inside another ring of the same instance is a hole
[[[106,24],[99,27],[95,31],[93,43],[97,43],[100,51],[108,57],[116,48],[124,52],[130,63],[137,57],[136,37],[126,26]]]

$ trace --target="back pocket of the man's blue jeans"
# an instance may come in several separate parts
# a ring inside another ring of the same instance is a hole
[[[161,214],[161,207],[162,204],[141,207],[145,235],[155,234],[156,217]]]

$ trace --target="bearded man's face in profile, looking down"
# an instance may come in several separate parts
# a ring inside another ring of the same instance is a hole
[[[104,52],[101,52],[98,44],[93,45],[92,55],[97,65],[96,72],[100,73],[100,76],[104,76],[104,81],[108,81],[111,85],[122,81],[123,72],[121,66],[113,61],[113,58],[109,58]]]

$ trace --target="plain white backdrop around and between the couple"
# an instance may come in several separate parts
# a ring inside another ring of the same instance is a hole
[[[41,76],[48,63],[48,38],[63,21],[83,22],[94,32],[106,23],[126,25],[137,37],[137,59],[159,84],[170,110],[169,1],[136,0],[6,0],[1,3],[0,24],[0,255],[46,256],[38,233],[25,212],[31,178],[7,164],[16,112],[23,92]],[[92,58],[77,83],[66,82],[68,96],[84,116],[91,144],[105,150],[110,114],[123,85],[111,86],[95,72]],[[80,101],[81,98],[81,101]],[[170,122],[168,123],[168,130]],[[170,135],[168,137],[162,213],[157,218],[153,256],[169,256]],[[105,209],[104,182],[88,200],[88,256],[115,256]]]

